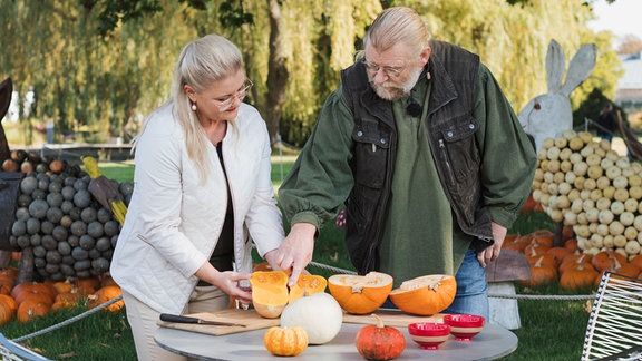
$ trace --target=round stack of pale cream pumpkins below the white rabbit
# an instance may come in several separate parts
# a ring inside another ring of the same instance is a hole
[[[642,165],[567,130],[537,152],[533,198],[554,222],[573,226],[580,250],[612,250],[628,260],[642,253]]]

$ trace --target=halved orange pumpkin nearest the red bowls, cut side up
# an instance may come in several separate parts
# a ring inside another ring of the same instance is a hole
[[[455,300],[456,292],[454,276],[430,274],[403,281],[390,292],[390,301],[403,312],[431,315],[446,310]]]

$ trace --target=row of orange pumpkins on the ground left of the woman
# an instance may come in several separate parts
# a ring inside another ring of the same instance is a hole
[[[17,284],[18,273],[13,267],[0,270],[0,325],[13,319],[25,323],[66,308],[93,309],[123,293],[108,275]],[[118,301],[105,310],[116,312],[123,305]]]

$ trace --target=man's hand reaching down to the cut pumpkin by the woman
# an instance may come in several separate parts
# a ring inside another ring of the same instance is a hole
[[[291,270],[289,285],[294,285],[308,263],[312,261],[317,227],[310,223],[295,223],[273,257],[279,269]],[[270,260],[268,261],[270,262]],[[272,264],[272,262],[270,262]]]

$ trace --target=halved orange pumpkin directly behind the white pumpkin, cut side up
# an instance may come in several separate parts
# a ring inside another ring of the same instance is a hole
[[[380,272],[335,274],[328,279],[328,287],[346,312],[368,314],[386,302],[392,291],[392,277]]]

